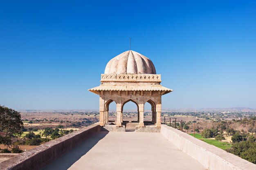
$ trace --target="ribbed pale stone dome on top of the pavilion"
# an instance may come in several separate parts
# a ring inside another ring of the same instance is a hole
[[[129,50],[112,58],[106,66],[105,74],[156,74],[156,71],[149,58]]]

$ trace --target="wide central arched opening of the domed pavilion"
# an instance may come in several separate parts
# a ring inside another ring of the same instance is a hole
[[[138,122],[139,121],[139,106],[133,100],[124,102],[121,108],[123,122]]]

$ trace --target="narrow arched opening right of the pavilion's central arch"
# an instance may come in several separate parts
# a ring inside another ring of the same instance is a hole
[[[148,108],[150,110],[148,110]],[[145,112],[146,110],[146,112]],[[153,124],[156,123],[156,104],[155,102],[153,102],[152,100],[148,100],[148,102],[146,102],[144,104],[144,121],[149,121]]]

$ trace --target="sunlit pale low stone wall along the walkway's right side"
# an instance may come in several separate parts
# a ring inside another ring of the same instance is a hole
[[[256,170],[255,164],[175,128],[162,125],[161,133],[180,150],[202,163],[207,170]]]

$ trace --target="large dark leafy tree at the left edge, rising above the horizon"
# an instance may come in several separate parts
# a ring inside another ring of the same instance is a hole
[[[0,105],[0,144],[5,146],[12,146],[11,137],[22,134],[23,123],[21,121],[20,113],[5,106]]]

